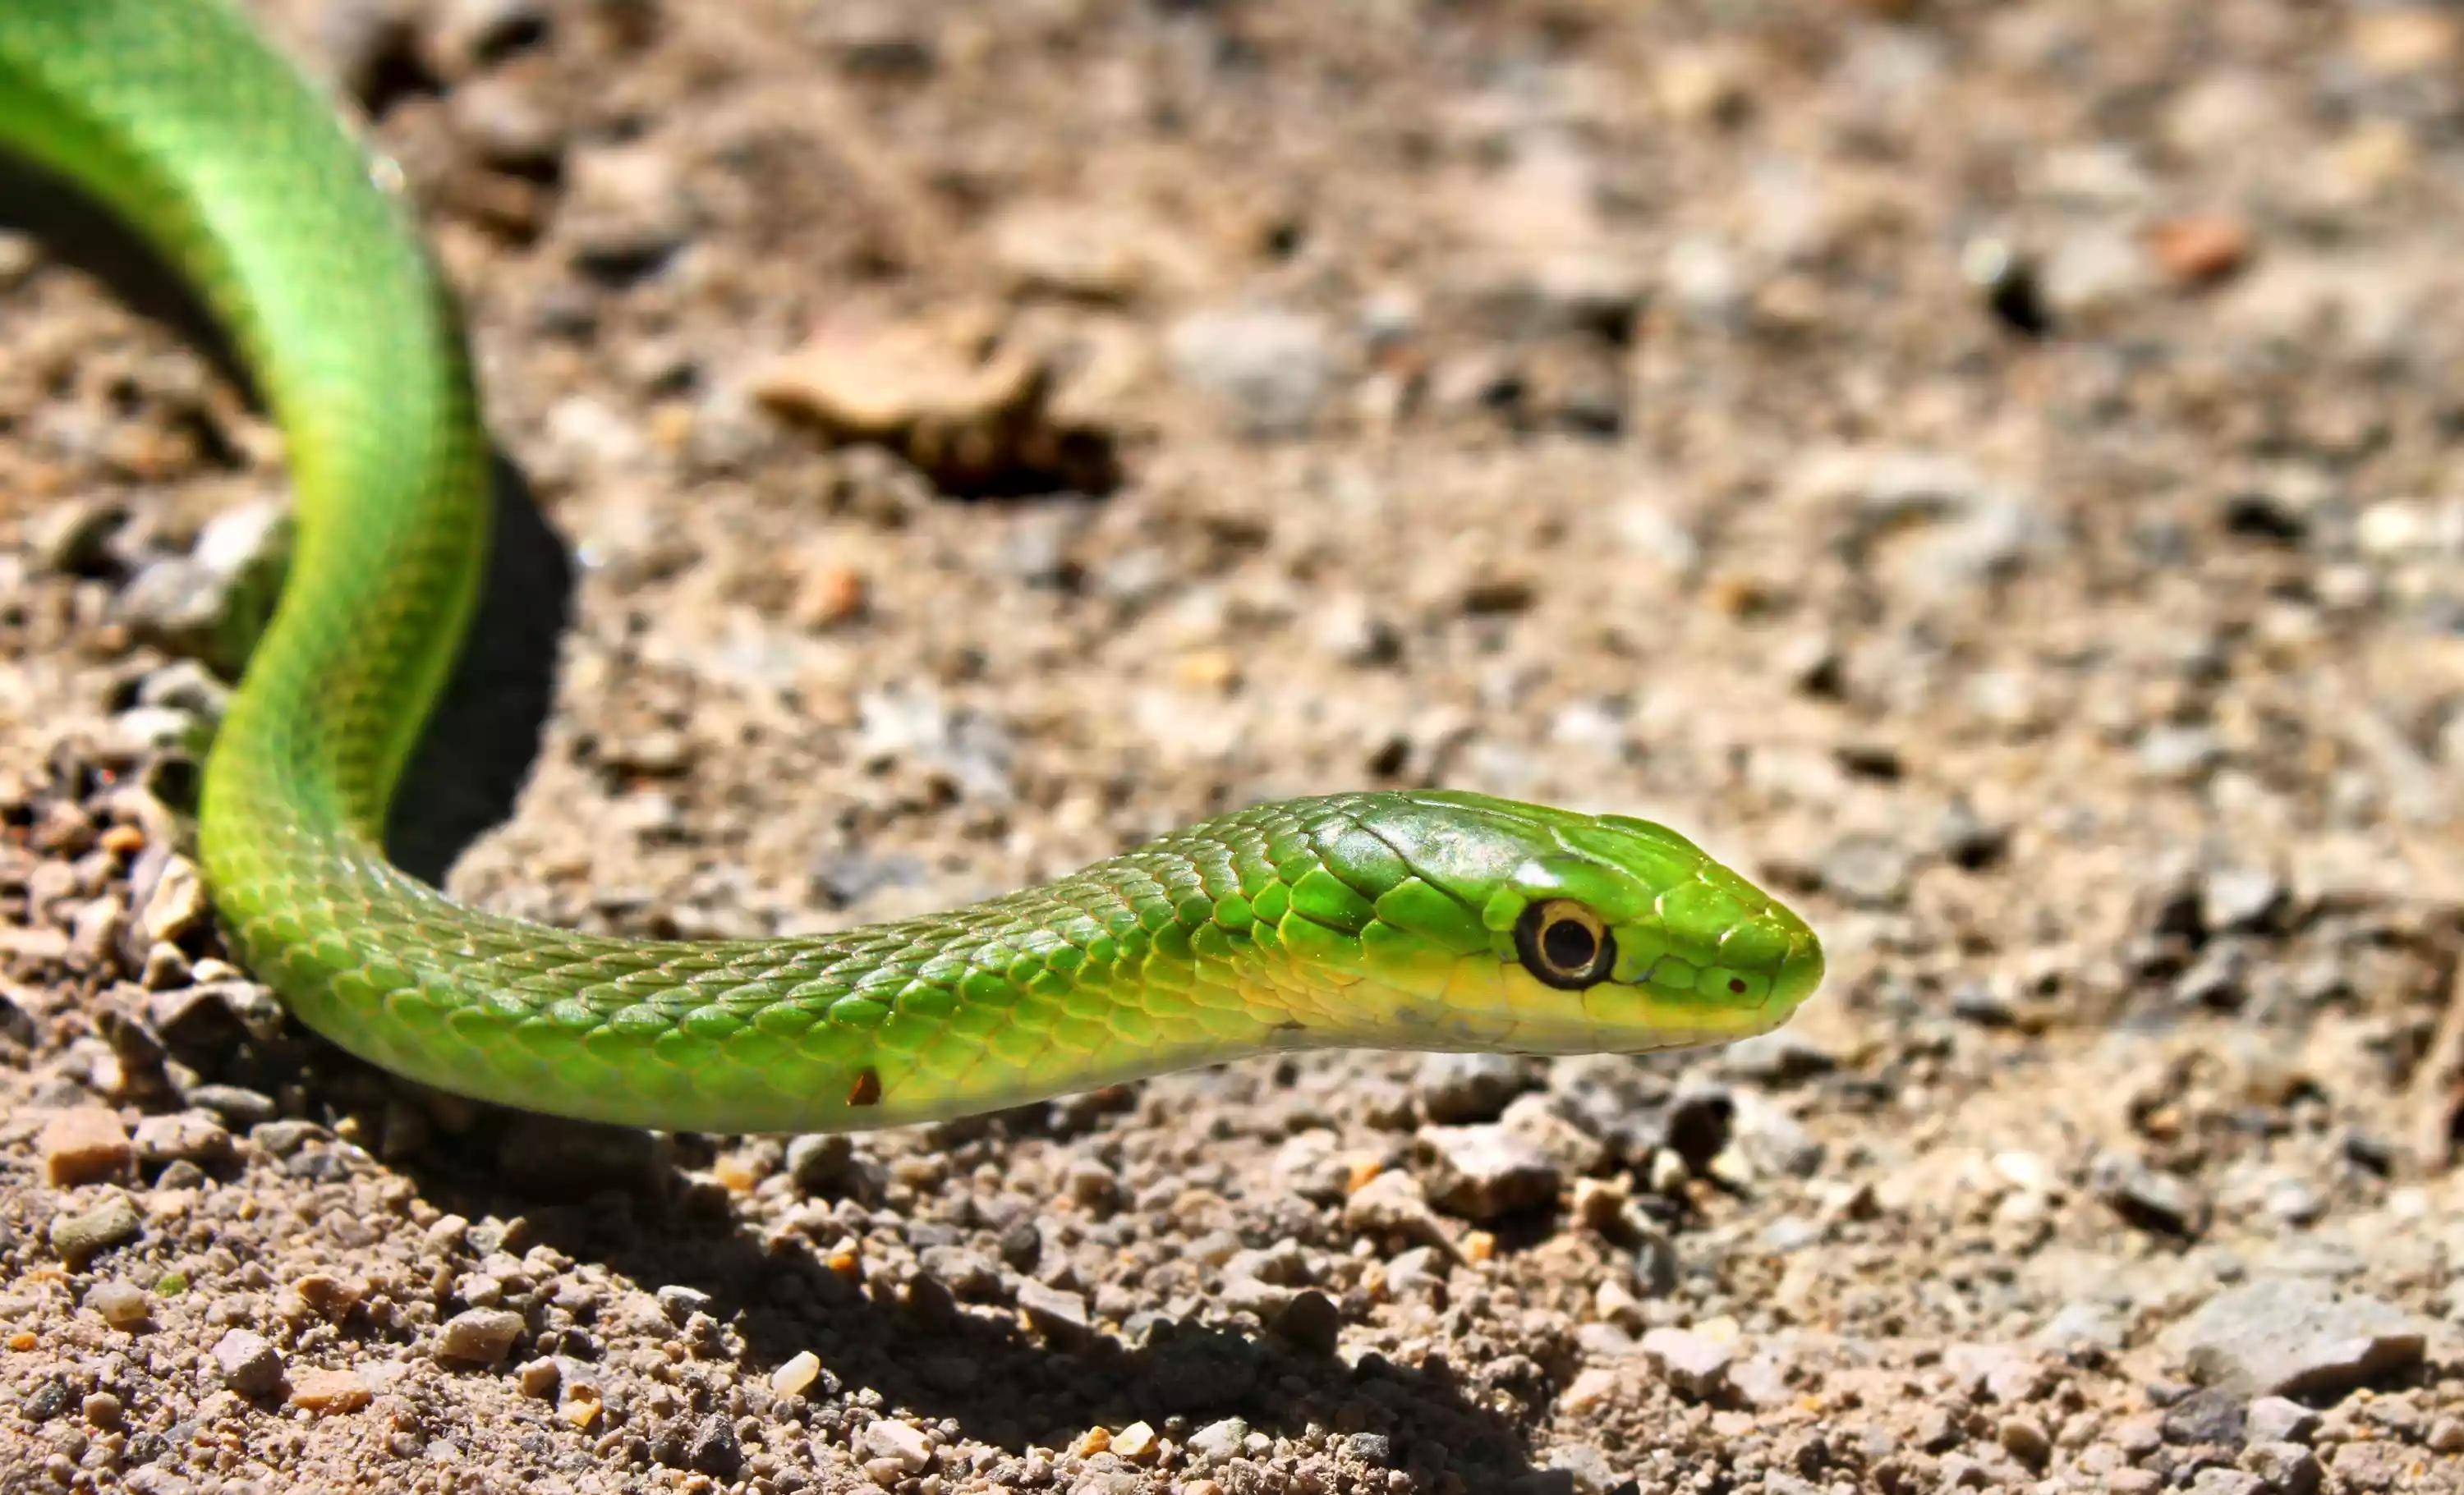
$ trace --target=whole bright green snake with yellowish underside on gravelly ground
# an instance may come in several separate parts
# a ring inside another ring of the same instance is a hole
[[[1673,830],[1441,791],[1259,805],[808,938],[456,904],[382,828],[473,611],[490,448],[399,192],[227,0],[0,0],[0,148],[155,246],[283,431],[296,544],[200,864],[246,968],[372,1064],[591,1121],[848,1130],[1276,1049],[1725,1042],[1821,980],[1814,931]]]

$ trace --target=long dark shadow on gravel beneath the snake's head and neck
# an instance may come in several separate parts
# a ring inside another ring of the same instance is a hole
[[[554,1123],[559,1133],[567,1126]],[[1013,1113],[976,1126],[1037,1123]],[[586,1153],[594,1135],[614,1155],[641,1158],[616,1128],[577,1128],[562,1145]],[[678,1138],[678,1145],[697,1140]],[[1491,1406],[1444,1355],[1419,1364],[1377,1352],[1343,1360],[1269,1330],[1161,1313],[1133,1315],[1119,1335],[1052,1320],[1027,1328],[1010,1308],[1008,1286],[991,1300],[961,1303],[924,1271],[853,1281],[830,1266],[828,1249],[816,1239],[801,1231],[761,1239],[715,1187],[685,1187],[683,1175],[658,1163],[648,1182],[545,1204],[540,1190],[508,1187],[500,1167],[471,1153],[456,1163],[451,1153],[431,1150],[409,1172],[439,1209],[468,1219],[520,1214],[527,1244],[599,1261],[636,1283],[707,1293],[707,1313],[742,1340],[734,1360],[747,1377],[769,1379],[798,1352],[813,1352],[848,1389],[870,1389],[897,1411],[949,1419],[968,1438],[1008,1453],[1067,1448],[1092,1426],[1124,1429],[1133,1421],[1185,1441],[1217,1419],[1237,1416],[1266,1436],[1358,1429],[1370,1438],[1350,1441],[1348,1458],[1417,1473],[1419,1488],[1432,1488],[1439,1470],[1454,1470],[1473,1490],[1574,1490],[1570,1473],[1533,1463],[1525,1426]],[[845,1217],[848,1207],[840,1204],[840,1212]],[[818,1234],[862,1234],[867,1217],[870,1209],[853,1214],[848,1227]],[[1015,1281],[1010,1273],[1003,1278]],[[690,1330],[680,1337],[692,1340]],[[715,1350],[702,1345],[697,1352]],[[816,1392],[825,1389],[828,1382]],[[678,1443],[683,1429],[705,1414],[683,1414],[668,1441]],[[655,1448],[660,1431],[646,1431]]]

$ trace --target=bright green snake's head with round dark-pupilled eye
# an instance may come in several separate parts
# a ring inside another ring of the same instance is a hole
[[[1355,995],[1387,1042],[1727,1042],[1779,1027],[1823,978],[1804,919],[1648,820],[1412,793],[1360,825],[1409,862],[1360,929]]]

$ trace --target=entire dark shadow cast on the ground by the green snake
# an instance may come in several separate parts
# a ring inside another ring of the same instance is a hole
[[[126,305],[168,323],[254,399],[246,369],[205,305],[74,187],[0,155],[0,227],[34,234]],[[478,616],[414,749],[387,835],[389,855],[414,877],[441,882],[478,835],[513,813],[554,697],[572,591],[572,554],[520,468],[498,453],[495,544]],[[340,1049],[306,1042],[313,1071],[367,1079]],[[614,1138],[618,1153],[628,1145]],[[663,1187],[559,1204],[554,1190],[508,1182],[493,1158],[468,1148],[436,1148],[399,1167],[439,1209],[522,1217],[535,1239],[567,1256],[601,1261],[641,1283],[710,1293],[712,1313],[734,1325],[742,1360],[756,1374],[811,1350],[845,1387],[951,1419],[971,1438],[1013,1453],[1067,1446],[1099,1424],[1193,1431],[1239,1416],[1264,1433],[1363,1426],[1385,1443],[1353,1443],[1355,1458],[1451,1468],[1481,1490],[1572,1490],[1570,1475],[1535,1470],[1525,1431],[1486,1406],[1444,1357],[1417,1367],[1382,1355],[1345,1362],[1266,1332],[1161,1318],[1143,1320],[1136,1342],[1069,1325],[1030,1332],[1008,1310],[961,1305],[929,1276],[855,1283],[801,1236],[764,1244],[727,1214],[678,1207],[690,1192],[675,1190],[673,1175]]]

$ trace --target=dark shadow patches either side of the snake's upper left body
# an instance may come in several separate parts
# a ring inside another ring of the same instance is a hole
[[[0,153],[0,229],[32,234],[128,308],[170,325],[256,401],[246,367],[205,303],[81,190]],[[572,552],[547,527],[530,480],[503,448],[493,453],[493,500],[478,611],[404,768],[387,828],[394,864],[431,884],[444,882],[473,840],[513,815],[540,756],[554,704],[557,640],[572,618]]]

